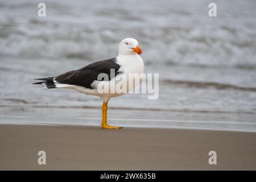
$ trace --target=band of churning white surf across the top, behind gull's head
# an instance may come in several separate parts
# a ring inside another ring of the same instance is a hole
[[[100,60],[119,40],[139,40],[151,64],[256,67],[255,1],[7,1],[0,6],[0,54]]]

